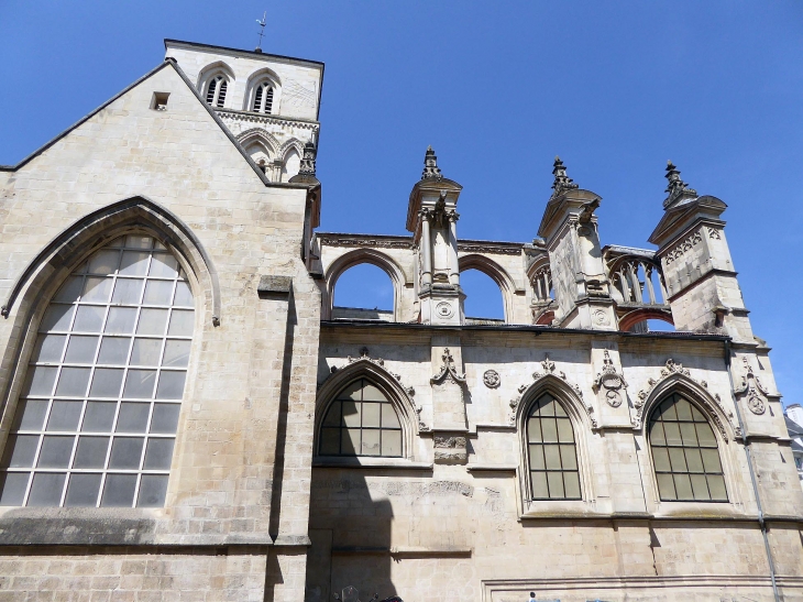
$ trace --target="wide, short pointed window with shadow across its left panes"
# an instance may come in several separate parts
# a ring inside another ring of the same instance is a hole
[[[320,456],[402,457],[402,424],[393,403],[366,379],[343,387],[321,423]]]

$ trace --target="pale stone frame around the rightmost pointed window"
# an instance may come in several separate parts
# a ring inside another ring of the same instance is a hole
[[[719,462],[723,467],[727,502],[689,502],[689,501],[661,501],[658,489],[658,478],[652,459],[652,449],[649,441],[649,418],[658,405],[672,394],[679,394],[700,409],[708,420],[717,441]],[[672,515],[678,512],[685,512],[690,508],[717,508],[721,512],[744,515],[748,508],[749,493],[737,486],[740,481],[739,466],[743,451],[738,448],[740,444],[736,440],[737,429],[733,418],[728,415],[721,401],[716,399],[707,386],[682,372],[672,372],[654,384],[649,395],[645,398],[644,405],[638,414],[638,426],[636,427],[636,442],[641,469],[641,479],[648,500],[648,512],[656,515]],[[746,470],[746,469],[745,469]]]

